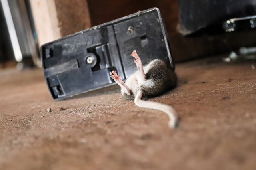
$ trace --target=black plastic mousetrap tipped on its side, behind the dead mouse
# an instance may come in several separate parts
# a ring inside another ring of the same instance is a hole
[[[54,100],[116,84],[136,71],[136,49],[143,65],[162,59],[174,69],[168,38],[158,8],[137,12],[41,46],[44,77]]]

